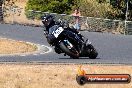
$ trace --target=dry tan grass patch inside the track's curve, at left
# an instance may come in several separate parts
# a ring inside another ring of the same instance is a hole
[[[36,51],[35,45],[25,42],[0,39],[0,54],[26,53]]]

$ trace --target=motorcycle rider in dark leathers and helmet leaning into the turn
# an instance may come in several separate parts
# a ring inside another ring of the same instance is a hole
[[[45,35],[47,38],[47,41],[50,45],[53,45],[56,41],[55,41],[55,37],[52,35],[52,32],[58,28],[58,26],[63,26],[63,24],[61,22],[55,21],[54,17],[50,14],[46,15],[46,16],[42,16],[42,23],[44,24],[44,27],[46,30],[45,31]],[[73,39],[74,41],[78,41],[79,44],[83,45],[83,41],[81,39],[76,39],[76,34],[78,34],[78,32],[75,29],[71,29],[71,28],[67,28],[69,31],[74,32],[75,34],[67,34],[67,36],[69,36],[71,39]],[[82,47],[81,47],[82,49]],[[80,49],[80,50],[81,50]]]

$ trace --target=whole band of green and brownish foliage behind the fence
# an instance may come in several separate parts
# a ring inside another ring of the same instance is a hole
[[[80,7],[83,16],[109,19],[125,19],[127,0],[29,0],[29,9],[43,12],[71,14],[73,9]],[[128,19],[132,20],[132,0],[129,0]]]

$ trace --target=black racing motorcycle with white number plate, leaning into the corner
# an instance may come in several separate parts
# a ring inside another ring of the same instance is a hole
[[[46,32],[44,34],[47,35]],[[83,44],[78,44],[78,41],[72,40],[71,35],[76,35],[74,37],[83,41]],[[73,59],[78,59],[79,57],[95,59],[98,56],[97,50],[88,39],[84,41],[78,34],[67,30],[65,27],[57,26],[52,31],[52,36],[54,37],[54,42],[51,46],[54,46],[54,50],[58,54],[63,53],[64,56],[68,55]]]

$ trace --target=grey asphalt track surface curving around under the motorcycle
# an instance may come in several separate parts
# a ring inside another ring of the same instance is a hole
[[[56,54],[54,50],[52,50],[50,53],[46,54],[0,56],[0,62],[132,64],[131,35],[114,35],[87,31],[82,31],[81,33],[87,37],[98,50],[99,55],[96,59],[71,59],[69,56]],[[0,37],[49,46],[43,35],[43,28],[41,27],[0,24]]]

